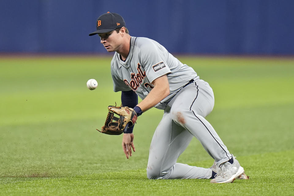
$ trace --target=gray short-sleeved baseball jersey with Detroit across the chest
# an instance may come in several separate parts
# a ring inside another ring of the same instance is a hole
[[[130,53],[125,61],[115,52],[111,74],[115,92],[134,90],[142,100],[152,90],[152,82],[167,74],[170,94],[155,106],[158,109],[165,109],[190,80],[199,79],[191,67],[181,63],[156,41],[145,37],[131,37]]]

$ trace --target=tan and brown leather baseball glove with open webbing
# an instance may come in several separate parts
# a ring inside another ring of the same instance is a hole
[[[108,135],[120,135],[123,130],[131,127],[137,120],[137,114],[133,108],[130,107],[120,107],[108,106],[108,114],[104,126],[101,127],[101,133]],[[119,115],[119,118],[114,114]]]

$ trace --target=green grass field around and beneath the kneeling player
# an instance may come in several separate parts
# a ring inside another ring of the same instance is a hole
[[[149,144],[163,111],[138,118],[136,152],[100,134],[111,56],[0,58],[0,195],[294,195],[294,58],[179,57],[215,93],[207,117],[249,180],[149,180]],[[90,91],[86,82],[98,81]],[[178,162],[210,167],[193,139]]]

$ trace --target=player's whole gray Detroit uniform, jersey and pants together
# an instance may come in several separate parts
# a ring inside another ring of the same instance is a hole
[[[115,92],[133,90],[141,99],[153,89],[152,82],[156,78],[167,74],[170,94],[155,106],[164,109],[164,115],[150,145],[149,179],[210,178],[210,169],[176,163],[193,137],[201,142],[218,166],[232,157],[205,119],[214,106],[209,84],[159,43],[131,37],[130,52],[125,61],[115,52],[111,74]]]

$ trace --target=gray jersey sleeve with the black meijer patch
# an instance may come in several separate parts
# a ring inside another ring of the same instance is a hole
[[[152,83],[156,78],[170,74],[166,63],[165,50],[153,42],[147,42],[140,48],[140,60],[146,71],[148,80]]]

